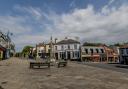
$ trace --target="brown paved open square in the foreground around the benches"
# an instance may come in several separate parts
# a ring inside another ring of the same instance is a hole
[[[69,62],[30,69],[30,60],[0,61],[0,89],[128,89],[127,73]]]

